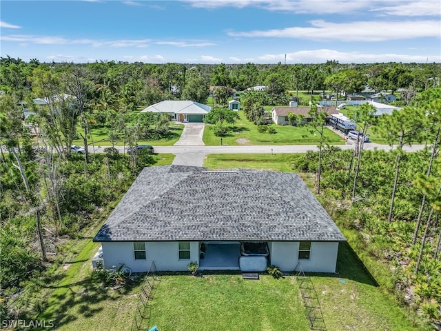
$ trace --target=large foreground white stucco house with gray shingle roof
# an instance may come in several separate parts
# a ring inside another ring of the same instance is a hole
[[[93,241],[104,268],[133,272],[335,272],[346,239],[298,174],[163,165],[143,169]]]

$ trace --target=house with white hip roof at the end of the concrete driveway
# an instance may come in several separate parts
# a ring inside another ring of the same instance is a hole
[[[202,103],[189,100],[165,100],[141,110],[141,112],[157,112],[170,115],[172,121],[203,122],[205,115],[212,108]]]

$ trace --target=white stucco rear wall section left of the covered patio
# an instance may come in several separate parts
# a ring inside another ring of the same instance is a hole
[[[188,263],[199,263],[199,243],[190,242],[190,259],[179,260],[177,241],[146,242],[145,260],[135,260],[132,242],[102,243],[104,268],[112,268],[113,265],[125,263],[132,272],[145,272],[150,269],[152,261],[158,271],[187,271]]]

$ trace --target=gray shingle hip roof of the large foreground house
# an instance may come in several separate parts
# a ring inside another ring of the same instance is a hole
[[[345,241],[298,174],[145,168],[94,241]]]

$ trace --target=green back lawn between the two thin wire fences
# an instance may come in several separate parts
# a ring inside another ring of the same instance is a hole
[[[298,283],[291,277],[241,274],[160,276],[150,322],[167,330],[309,330]]]

